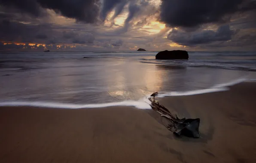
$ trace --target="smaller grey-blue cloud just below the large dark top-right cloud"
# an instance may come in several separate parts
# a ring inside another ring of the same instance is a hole
[[[221,26],[216,31],[200,30],[190,33],[173,29],[167,38],[179,45],[196,46],[216,41],[229,41],[237,32],[236,30],[231,30],[229,25]]]

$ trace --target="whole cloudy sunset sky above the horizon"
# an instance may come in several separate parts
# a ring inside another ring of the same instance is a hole
[[[256,0],[0,0],[0,51],[254,51]]]

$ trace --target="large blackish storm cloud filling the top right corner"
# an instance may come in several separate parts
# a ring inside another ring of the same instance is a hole
[[[256,9],[255,0],[162,0],[161,21],[172,27],[195,27],[228,21],[230,14]]]

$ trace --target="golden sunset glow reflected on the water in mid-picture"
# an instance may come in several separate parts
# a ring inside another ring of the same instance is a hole
[[[130,67],[129,71],[127,66]],[[163,78],[166,75],[166,71],[158,71],[158,67],[155,65],[141,66],[140,63],[127,63],[122,59],[107,65],[105,68],[106,71],[115,71],[115,73],[108,74],[110,78],[105,83],[108,94],[116,98],[126,97],[130,99],[134,98],[135,92],[148,95],[152,92],[161,91]],[[133,85],[134,89],[130,90],[128,85]]]

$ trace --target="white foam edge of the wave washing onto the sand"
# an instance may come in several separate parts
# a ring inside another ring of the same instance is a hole
[[[256,79],[238,78],[232,82],[223,83],[220,85],[215,85],[211,88],[194,90],[194,91],[172,91],[172,92],[159,92],[158,97],[167,96],[190,96],[196,94],[206,94],[220,91],[228,91],[229,86],[236,85],[241,82],[256,82]],[[60,109],[86,109],[86,108],[103,108],[110,106],[134,106],[137,109],[151,109],[150,101],[148,97],[142,98],[140,100],[126,100],[121,102],[113,103],[102,103],[102,104],[72,104],[72,103],[55,103],[55,102],[30,102],[30,101],[3,101],[0,102],[0,106],[32,106],[32,107],[45,107],[45,108],[60,108]]]

